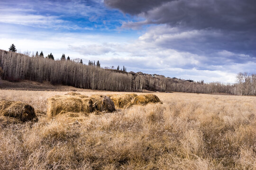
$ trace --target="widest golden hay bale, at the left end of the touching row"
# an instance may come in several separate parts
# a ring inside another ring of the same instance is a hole
[[[57,95],[47,99],[47,116],[52,117],[65,112],[92,112],[92,101],[90,98],[80,95]]]

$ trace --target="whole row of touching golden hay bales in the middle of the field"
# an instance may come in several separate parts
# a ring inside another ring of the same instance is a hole
[[[90,97],[81,93],[66,93],[55,95],[47,99],[47,115],[53,117],[58,114],[82,113],[93,111],[115,111],[116,108],[128,108],[133,104],[145,105],[147,103],[160,102],[155,94],[95,94]]]

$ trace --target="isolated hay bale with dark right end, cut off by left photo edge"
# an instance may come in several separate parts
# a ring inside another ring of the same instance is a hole
[[[25,102],[0,100],[0,116],[15,118],[22,122],[37,121],[34,108]]]

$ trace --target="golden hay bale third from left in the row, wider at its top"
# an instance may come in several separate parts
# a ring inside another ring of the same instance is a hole
[[[115,103],[117,108],[128,108],[132,105],[132,100],[137,96],[137,94],[112,94],[110,99]]]

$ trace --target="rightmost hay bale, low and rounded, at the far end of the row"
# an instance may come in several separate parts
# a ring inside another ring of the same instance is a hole
[[[160,102],[160,99],[155,94],[141,94],[133,99],[132,104],[146,105],[150,102]]]

